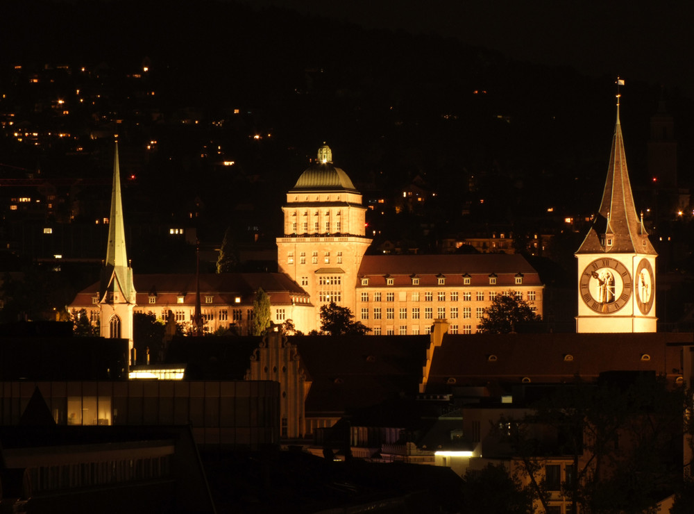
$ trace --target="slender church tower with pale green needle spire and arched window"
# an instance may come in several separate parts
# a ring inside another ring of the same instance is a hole
[[[111,214],[108,222],[106,261],[103,270],[101,270],[101,287],[99,288],[101,337],[127,339],[130,363],[134,364],[132,361],[134,360],[133,309],[135,308],[135,285],[133,283],[133,269],[128,263],[126,254],[117,142],[113,164]]]

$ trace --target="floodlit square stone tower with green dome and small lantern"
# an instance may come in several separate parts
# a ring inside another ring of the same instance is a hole
[[[277,238],[278,267],[311,295],[316,313],[307,329],[319,329],[321,306],[331,301],[349,308],[356,304],[357,270],[371,244],[362,194],[332,165],[332,151],[324,144],[287,192],[282,212],[285,230]],[[304,330],[297,321],[296,328]]]

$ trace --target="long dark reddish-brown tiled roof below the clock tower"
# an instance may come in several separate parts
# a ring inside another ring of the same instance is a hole
[[[452,383],[519,383],[526,377],[594,379],[605,371],[655,371],[674,378],[683,372],[677,343],[691,340],[691,333],[447,334],[434,349],[427,392],[450,389]]]

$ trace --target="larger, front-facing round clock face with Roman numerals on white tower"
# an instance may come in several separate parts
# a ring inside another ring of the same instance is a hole
[[[593,260],[581,274],[581,297],[596,313],[616,313],[632,297],[632,277],[617,259]]]

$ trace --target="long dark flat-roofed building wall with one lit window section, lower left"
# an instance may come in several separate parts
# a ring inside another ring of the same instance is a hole
[[[279,441],[271,381],[0,382],[0,424],[16,425],[35,388],[58,424],[191,424],[198,445],[258,449]]]

